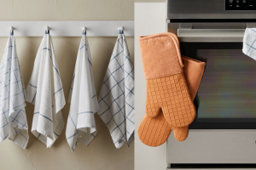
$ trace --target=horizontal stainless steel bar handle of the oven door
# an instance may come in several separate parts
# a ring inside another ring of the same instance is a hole
[[[242,42],[245,29],[177,29],[180,42]]]

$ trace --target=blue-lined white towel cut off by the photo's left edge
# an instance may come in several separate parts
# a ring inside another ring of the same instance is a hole
[[[26,148],[26,92],[16,53],[15,37],[10,32],[0,65],[0,142],[10,139]]]

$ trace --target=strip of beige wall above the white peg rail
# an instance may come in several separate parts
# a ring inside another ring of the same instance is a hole
[[[133,0],[0,0],[0,20],[133,20]]]

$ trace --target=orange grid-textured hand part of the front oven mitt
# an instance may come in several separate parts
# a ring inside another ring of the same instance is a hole
[[[157,116],[160,108],[166,121],[175,127],[189,125],[195,118],[195,106],[183,74],[147,80],[146,113]]]

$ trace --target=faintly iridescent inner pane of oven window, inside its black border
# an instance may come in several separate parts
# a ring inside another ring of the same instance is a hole
[[[256,118],[256,60],[241,49],[199,49],[207,66],[198,91],[198,118]]]

